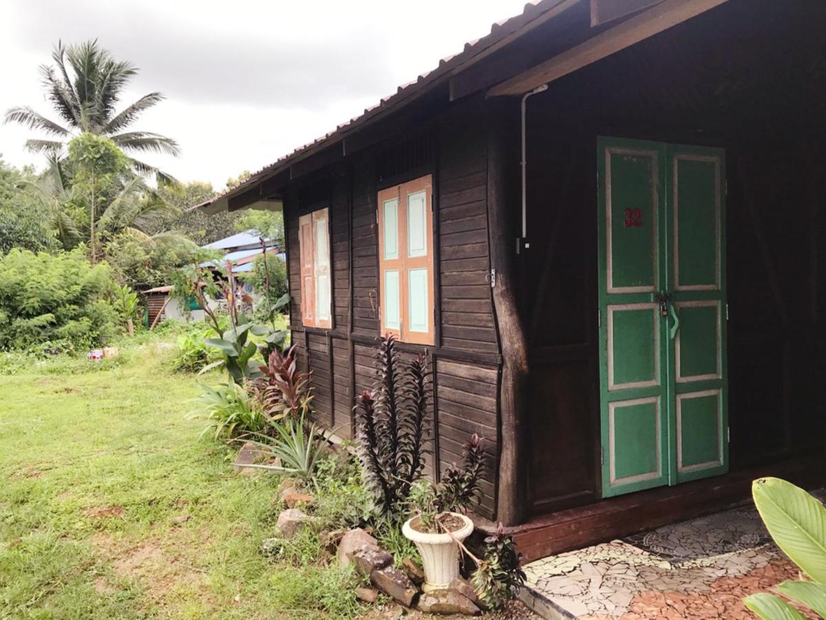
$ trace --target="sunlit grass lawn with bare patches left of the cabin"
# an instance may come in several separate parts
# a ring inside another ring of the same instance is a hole
[[[198,380],[222,378],[170,373],[170,355],[0,376],[0,618],[358,613],[348,575],[259,554],[278,478],[235,475],[200,437]]]

